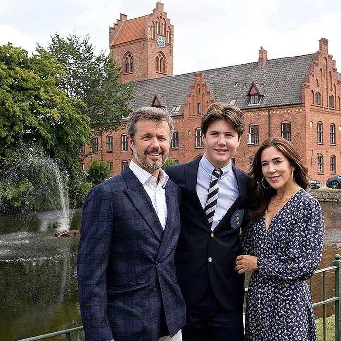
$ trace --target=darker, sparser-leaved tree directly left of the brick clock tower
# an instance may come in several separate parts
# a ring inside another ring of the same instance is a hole
[[[121,71],[114,60],[104,52],[95,55],[89,36],[75,34],[64,38],[55,33],[47,51],[65,67],[59,86],[69,97],[85,103],[82,112],[90,119],[93,133],[119,128],[122,117],[130,113],[133,84],[120,82]]]

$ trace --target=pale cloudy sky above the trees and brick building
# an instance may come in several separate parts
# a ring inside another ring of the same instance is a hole
[[[55,32],[89,34],[109,53],[109,26],[152,12],[157,0],[0,0],[0,45],[34,52]],[[163,0],[174,25],[174,75],[258,60],[305,55],[329,40],[341,72],[341,0]]]

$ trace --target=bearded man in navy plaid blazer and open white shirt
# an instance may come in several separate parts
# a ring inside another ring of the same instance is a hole
[[[181,340],[185,304],[173,262],[181,193],[161,169],[173,129],[167,111],[133,112],[129,168],[87,197],[77,262],[86,340]]]

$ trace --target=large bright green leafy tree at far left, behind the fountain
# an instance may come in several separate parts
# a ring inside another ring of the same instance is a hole
[[[58,85],[65,71],[48,52],[31,57],[12,44],[0,46],[0,167],[8,173],[16,167],[19,145],[42,148],[64,169],[69,181],[85,182],[78,167],[80,147],[89,140],[89,120],[82,114],[85,104],[70,98]],[[17,166],[18,167],[18,166]],[[2,182],[2,196],[20,205],[19,196],[32,192],[28,181],[12,187]],[[74,186],[75,199],[84,189]],[[82,194],[84,196],[84,194]]]

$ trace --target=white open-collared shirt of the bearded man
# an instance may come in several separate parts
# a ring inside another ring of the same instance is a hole
[[[165,186],[168,181],[168,175],[160,169],[159,183],[155,176],[152,176],[147,170],[144,170],[137,165],[133,160],[129,164],[130,170],[135,174],[137,179],[142,184],[143,188],[147,192],[151,199],[152,205],[155,209],[160,224],[165,229],[167,221],[167,202],[166,202],[166,190]]]

